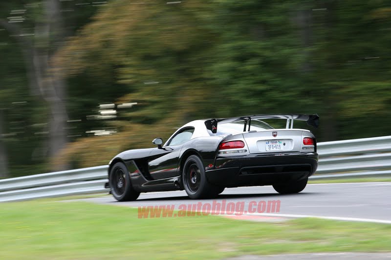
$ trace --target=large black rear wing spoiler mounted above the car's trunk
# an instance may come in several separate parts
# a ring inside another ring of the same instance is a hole
[[[317,114],[314,115],[303,115],[303,114],[276,114],[276,115],[253,115],[253,116],[244,116],[237,118],[221,118],[221,119],[210,119],[205,121],[206,129],[211,130],[212,133],[217,133],[217,123],[231,123],[237,121],[244,120],[243,132],[246,131],[248,126],[248,130],[250,131],[251,120],[257,119],[285,119],[286,120],[286,128],[293,128],[293,120],[301,120],[306,121],[308,125],[317,128],[319,126],[319,116]]]

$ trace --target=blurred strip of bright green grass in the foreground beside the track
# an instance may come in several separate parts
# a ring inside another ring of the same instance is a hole
[[[222,217],[138,219],[87,202],[1,203],[0,259],[222,259],[248,254],[391,251],[391,225]]]

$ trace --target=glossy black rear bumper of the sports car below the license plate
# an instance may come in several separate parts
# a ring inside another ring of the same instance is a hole
[[[209,182],[225,187],[271,185],[311,176],[318,158],[317,153],[217,157],[215,167],[205,173]]]

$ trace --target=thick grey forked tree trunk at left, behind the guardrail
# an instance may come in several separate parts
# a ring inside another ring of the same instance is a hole
[[[51,56],[61,45],[64,39],[64,26],[61,20],[60,3],[58,0],[44,0],[44,17],[35,24],[36,41],[19,37],[20,28],[7,21],[0,20],[0,24],[10,31],[18,40],[25,59],[27,78],[30,93],[39,95],[49,107],[49,139],[45,145],[50,157],[55,157],[66,145],[66,85],[61,68],[53,68],[50,64]],[[53,168],[52,170],[65,170]]]

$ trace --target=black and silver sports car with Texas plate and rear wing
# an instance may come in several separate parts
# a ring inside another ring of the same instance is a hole
[[[262,120],[286,120],[274,129]],[[122,152],[109,163],[116,200],[140,192],[186,190],[191,199],[212,198],[226,187],[273,185],[282,194],[301,192],[318,167],[315,136],[294,120],[318,127],[318,115],[254,115],[195,120],[155,148]]]

